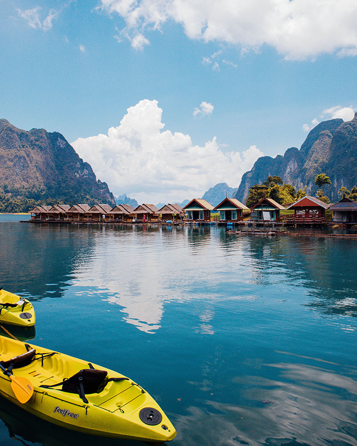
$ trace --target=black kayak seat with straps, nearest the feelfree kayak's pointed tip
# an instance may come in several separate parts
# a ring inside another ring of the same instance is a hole
[[[122,381],[129,378],[107,378],[108,373],[105,370],[96,370],[92,364],[88,364],[89,369],[83,369],[69,378],[65,378],[58,384],[42,384],[40,387],[50,388],[62,385],[64,392],[78,393],[84,403],[88,403],[86,393],[100,393],[109,381]]]

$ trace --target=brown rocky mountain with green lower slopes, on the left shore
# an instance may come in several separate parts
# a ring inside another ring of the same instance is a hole
[[[63,135],[43,128],[26,132],[6,119],[0,119],[0,191],[19,199],[115,205],[107,183],[96,180]]]

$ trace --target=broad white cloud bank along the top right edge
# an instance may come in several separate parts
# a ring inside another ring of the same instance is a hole
[[[173,20],[191,39],[242,51],[267,44],[291,60],[357,54],[355,0],[101,0],[100,6],[124,20],[127,36],[162,31]]]

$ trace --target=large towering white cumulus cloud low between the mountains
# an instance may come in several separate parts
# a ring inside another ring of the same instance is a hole
[[[163,130],[158,101],[143,99],[107,135],[79,138],[72,146],[114,194],[139,202],[181,202],[201,197],[219,182],[232,187],[263,153],[250,146],[223,153],[216,141],[201,147],[189,135]]]

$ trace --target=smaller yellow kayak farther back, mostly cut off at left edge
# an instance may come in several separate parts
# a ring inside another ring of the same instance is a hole
[[[35,310],[31,302],[0,288],[0,323],[32,327],[35,322]]]

